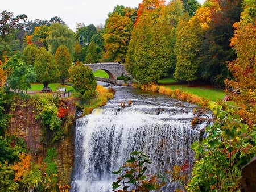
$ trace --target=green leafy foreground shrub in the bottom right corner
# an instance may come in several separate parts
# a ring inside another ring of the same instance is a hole
[[[256,155],[256,127],[250,127],[232,108],[210,105],[216,120],[207,137],[192,145],[196,163],[188,191],[239,191],[241,168]]]

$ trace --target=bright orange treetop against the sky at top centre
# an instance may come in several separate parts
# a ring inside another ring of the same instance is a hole
[[[157,7],[164,6],[164,0],[143,0],[142,3],[139,3],[139,8],[137,11],[137,19],[135,21],[135,25],[138,23],[139,17],[145,11],[152,11]]]

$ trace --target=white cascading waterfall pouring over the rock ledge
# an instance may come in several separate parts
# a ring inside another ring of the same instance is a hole
[[[170,98],[167,101],[147,97],[145,103],[133,95],[133,105],[125,108],[115,99],[76,120],[76,165],[71,191],[112,191],[112,182],[117,178],[112,171],[118,170],[135,150],[148,155],[151,174],[171,170],[185,161],[193,164],[190,146],[199,140],[200,130],[205,127],[191,126],[195,106]]]

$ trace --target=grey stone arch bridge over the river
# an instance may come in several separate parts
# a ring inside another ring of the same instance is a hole
[[[104,70],[106,73],[108,73],[109,78],[96,78],[100,81],[107,81],[112,82],[114,84],[117,83],[117,77],[121,76],[122,74],[124,76],[131,77],[130,74],[127,73],[125,70],[125,65],[121,65],[118,62],[102,62],[102,63],[94,63],[94,64],[84,64],[85,66],[89,66],[92,72],[95,72],[96,70]]]

